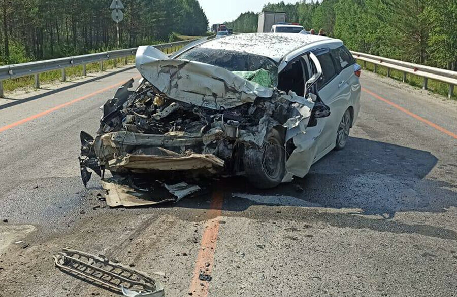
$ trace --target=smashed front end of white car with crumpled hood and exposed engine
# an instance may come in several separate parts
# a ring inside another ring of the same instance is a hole
[[[102,177],[108,205],[140,206],[201,190],[184,180],[244,175],[271,188],[304,175],[303,135],[319,103],[273,88],[277,66],[259,57],[252,57],[259,70],[231,72],[141,47],[139,87],[130,91],[130,80],[103,105],[95,138],[81,132],[84,185],[89,168]]]

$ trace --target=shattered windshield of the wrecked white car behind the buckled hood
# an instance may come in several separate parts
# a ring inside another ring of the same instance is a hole
[[[179,59],[225,68],[264,87],[275,87],[278,82],[278,67],[275,62],[264,56],[220,49],[193,48],[180,55]]]

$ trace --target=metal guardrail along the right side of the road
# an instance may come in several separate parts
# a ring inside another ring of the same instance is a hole
[[[354,55],[356,59],[364,61],[364,67],[366,66],[367,62],[374,64],[374,72],[376,72],[377,65],[387,67],[387,77],[390,76],[390,69],[402,71],[403,82],[406,81],[407,73],[422,77],[422,89],[424,90],[427,90],[427,84],[429,79],[449,84],[448,98],[452,97],[454,93],[454,86],[457,85],[457,71],[403,62],[399,60],[378,57],[360,52],[351,51],[351,53],[352,55]]]

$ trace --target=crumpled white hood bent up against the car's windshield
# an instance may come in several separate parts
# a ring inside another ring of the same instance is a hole
[[[170,59],[152,46],[141,46],[136,55],[141,75],[171,99],[211,109],[233,108],[269,98],[273,90],[247,81],[213,65]]]

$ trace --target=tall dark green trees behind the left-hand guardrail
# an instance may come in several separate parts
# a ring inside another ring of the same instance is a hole
[[[203,35],[198,0],[122,0],[120,48]],[[0,0],[0,65],[117,49],[111,0]],[[173,32],[179,32],[173,33]]]

